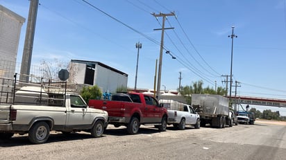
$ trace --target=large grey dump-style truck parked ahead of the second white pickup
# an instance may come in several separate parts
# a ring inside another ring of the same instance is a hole
[[[224,128],[233,126],[233,114],[228,108],[228,98],[214,94],[192,94],[192,107],[200,115],[201,126]]]

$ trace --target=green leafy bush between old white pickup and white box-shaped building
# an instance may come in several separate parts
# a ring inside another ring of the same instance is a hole
[[[96,100],[101,99],[102,93],[99,87],[94,85],[89,87],[83,87],[83,89],[81,90],[81,96],[83,97],[85,102],[88,103],[88,100],[91,99],[96,99]]]

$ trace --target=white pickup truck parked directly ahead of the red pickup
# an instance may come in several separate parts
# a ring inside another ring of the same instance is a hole
[[[174,100],[160,100],[160,104],[167,108],[168,125],[174,125],[178,130],[185,130],[185,125],[194,125],[196,129],[200,128],[200,116],[192,106],[178,103]]]

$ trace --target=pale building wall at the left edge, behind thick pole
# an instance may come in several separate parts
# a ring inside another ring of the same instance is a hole
[[[13,78],[19,37],[25,19],[0,5],[0,77]]]

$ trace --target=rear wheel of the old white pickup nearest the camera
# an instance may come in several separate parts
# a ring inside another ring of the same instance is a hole
[[[50,128],[45,122],[35,123],[28,131],[28,140],[31,143],[45,143],[49,139]]]

